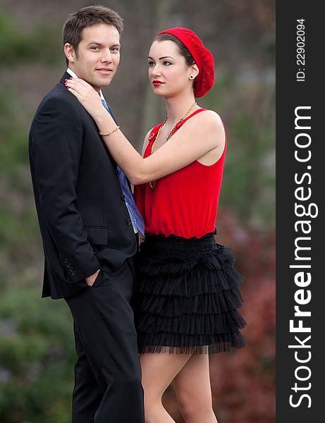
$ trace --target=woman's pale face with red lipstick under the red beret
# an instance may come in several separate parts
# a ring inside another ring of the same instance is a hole
[[[154,94],[172,97],[192,90],[192,67],[185,62],[173,41],[154,41],[148,55],[149,81]]]

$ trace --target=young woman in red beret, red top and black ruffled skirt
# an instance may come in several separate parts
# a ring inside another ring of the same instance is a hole
[[[231,250],[215,243],[226,134],[202,97],[214,82],[214,59],[182,27],[161,32],[148,56],[149,81],[167,116],[149,130],[142,156],[83,80],[67,87],[96,121],[106,146],[135,186],[145,221],[135,324],[147,423],[174,422],[161,403],[173,383],[186,423],[215,423],[209,353],[245,345],[245,321]]]

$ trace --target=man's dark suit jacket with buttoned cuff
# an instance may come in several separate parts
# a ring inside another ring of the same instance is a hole
[[[51,298],[80,290],[101,267],[118,270],[137,249],[116,162],[66,78],[42,100],[29,137],[45,257],[42,297]]]

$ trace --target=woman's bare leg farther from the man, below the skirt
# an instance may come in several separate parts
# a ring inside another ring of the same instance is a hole
[[[173,379],[186,423],[217,423],[212,409],[209,355],[193,354]]]

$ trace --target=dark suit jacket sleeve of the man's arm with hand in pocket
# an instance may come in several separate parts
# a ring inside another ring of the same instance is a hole
[[[52,97],[31,129],[31,154],[42,215],[59,250],[66,279],[79,282],[101,265],[75,207],[82,152],[82,123],[69,99]]]

